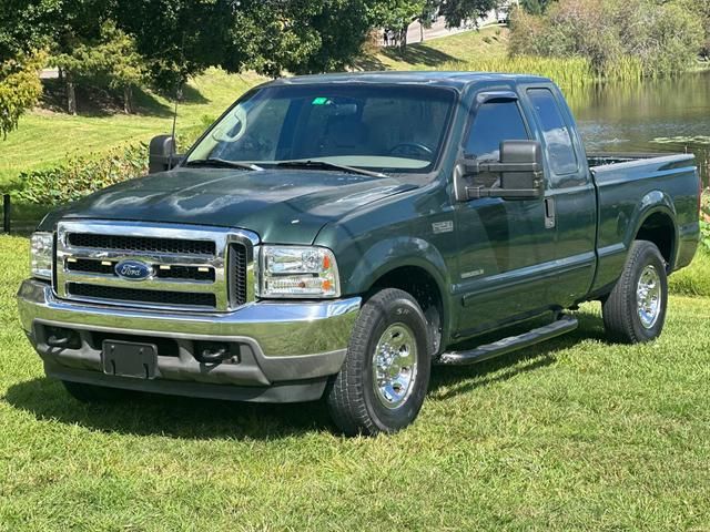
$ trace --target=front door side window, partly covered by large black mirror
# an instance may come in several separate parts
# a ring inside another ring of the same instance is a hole
[[[498,161],[500,142],[528,139],[517,102],[484,103],[476,111],[468,132],[466,155],[475,155],[481,161]]]

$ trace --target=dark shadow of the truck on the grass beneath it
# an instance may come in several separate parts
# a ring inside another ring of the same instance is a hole
[[[580,340],[592,338],[605,341],[597,316],[581,313],[577,317],[579,329],[556,340],[474,366],[435,367],[429,400],[446,400],[544,368],[556,361],[557,351],[572,347]],[[500,372],[505,368],[510,369]],[[138,436],[263,440],[334,430],[323,401],[256,405],[126,392],[125,399],[118,402],[84,405],[69,396],[60,382],[48,378],[10,387],[4,400],[40,421],[59,421],[102,432]]]

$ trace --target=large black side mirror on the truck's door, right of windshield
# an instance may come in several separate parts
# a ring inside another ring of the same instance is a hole
[[[536,200],[545,195],[542,146],[537,141],[504,141],[500,161],[465,158],[456,165],[456,196],[459,201],[479,197]],[[480,174],[499,174],[499,184],[488,187],[476,183]],[[467,178],[473,177],[473,184]]]

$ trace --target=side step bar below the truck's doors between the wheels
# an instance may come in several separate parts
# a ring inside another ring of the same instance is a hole
[[[467,366],[469,364],[480,362],[489,358],[499,357],[518,349],[524,349],[540,341],[549,340],[557,336],[571,332],[579,326],[576,318],[564,316],[550,325],[538,327],[518,336],[503,338],[493,344],[478,346],[469,351],[450,351],[443,354],[437,364],[442,366]]]

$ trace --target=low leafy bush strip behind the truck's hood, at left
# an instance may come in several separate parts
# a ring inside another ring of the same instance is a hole
[[[28,203],[61,205],[146,172],[148,146],[140,143],[100,158],[71,157],[61,166],[22,172],[14,195]]]

